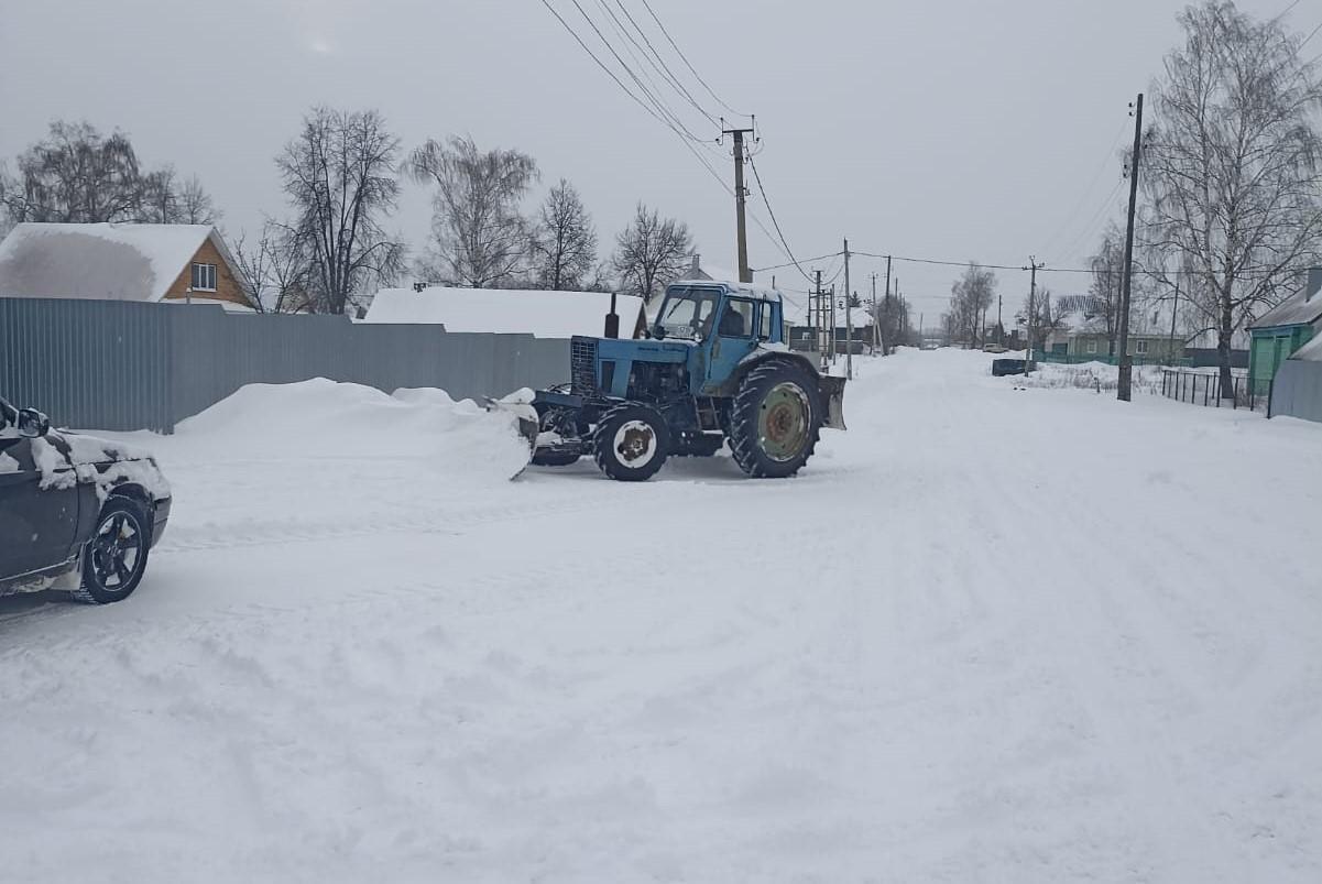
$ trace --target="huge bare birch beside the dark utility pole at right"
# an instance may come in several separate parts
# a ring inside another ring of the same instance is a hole
[[[1144,148],[1147,244],[1187,272],[1231,390],[1235,332],[1289,293],[1317,256],[1322,83],[1278,20],[1210,0],[1179,21],[1185,45],[1166,57]]]

